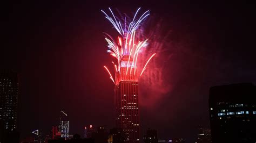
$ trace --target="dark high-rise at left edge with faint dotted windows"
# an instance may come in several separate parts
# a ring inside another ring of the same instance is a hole
[[[17,135],[18,94],[18,74],[0,70],[0,142],[7,142],[10,135],[12,139]]]

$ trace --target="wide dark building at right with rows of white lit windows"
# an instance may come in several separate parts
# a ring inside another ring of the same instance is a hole
[[[256,87],[240,83],[212,87],[209,111],[212,142],[256,142]]]

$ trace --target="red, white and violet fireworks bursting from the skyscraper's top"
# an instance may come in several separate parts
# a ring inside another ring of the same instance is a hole
[[[116,80],[114,80],[109,69],[107,69],[106,66],[104,66],[104,68],[109,73],[110,79],[114,82],[114,84],[118,84],[119,81],[137,81],[138,78],[142,76],[149,61],[156,54],[154,53],[150,56],[142,70],[138,69],[138,65],[141,64],[138,63],[138,58],[140,58],[139,53],[147,46],[148,39],[139,41],[139,32],[136,31],[138,31],[139,26],[142,25],[145,18],[150,15],[149,10],[144,12],[143,15],[137,19],[137,15],[140,10],[139,8],[130,23],[126,22],[126,17],[122,20],[122,22],[120,22],[120,19],[114,16],[114,13],[110,8],[109,10],[113,18],[107,15],[107,13],[103,10],[102,12],[105,14],[105,18],[110,21],[113,27],[120,34],[120,37],[118,37],[117,42],[115,42],[110,35],[106,34],[105,40],[107,41],[107,52],[117,59],[117,65],[114,62],[112,63],[116,71],[116,75],[120,78],[116,78]],[[139,77],[137,77],[137,73]]]

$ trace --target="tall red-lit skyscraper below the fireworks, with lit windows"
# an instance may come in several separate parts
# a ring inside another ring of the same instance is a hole
[[[133,59],[124,55],[120,73],[116,72],[116,124],[125,134],[125,142],[139,142],[138,77],[134,74]],[[129,72],[127,68],[129,67]],[[131,70],[131,71],[130,71]]]

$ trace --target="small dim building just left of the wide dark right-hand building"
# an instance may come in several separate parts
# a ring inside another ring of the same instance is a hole
[[[198,125],[197,143],[211,143],[211,130]]]

